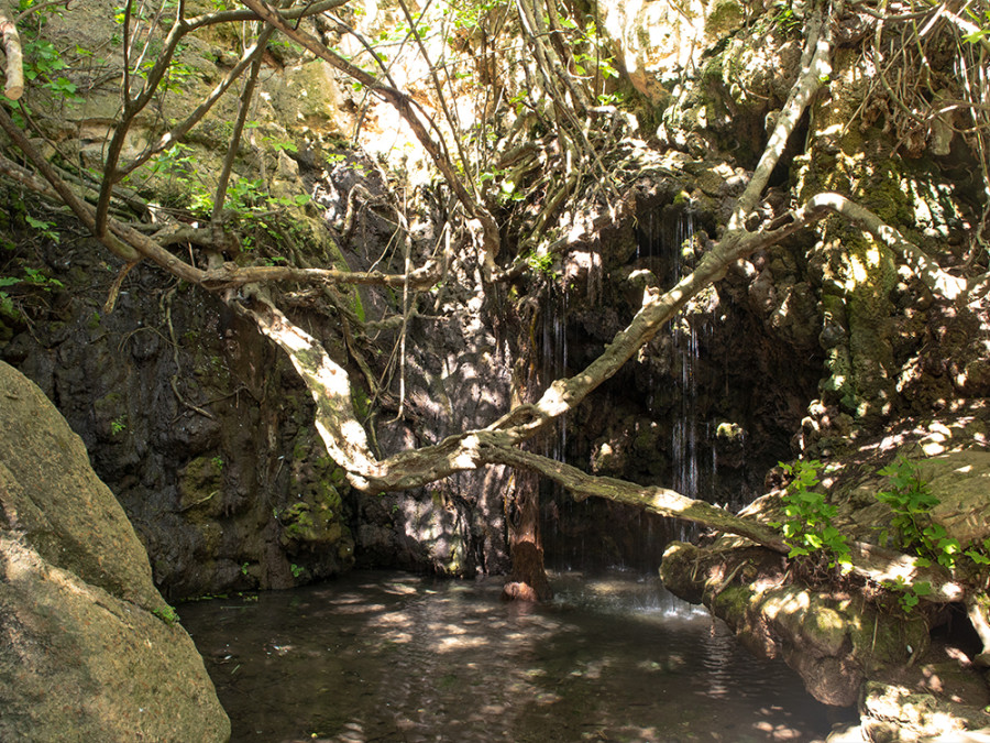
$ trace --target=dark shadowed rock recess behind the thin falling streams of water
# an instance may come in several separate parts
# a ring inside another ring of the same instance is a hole
[[[565,276],[564,288],[541,304],[537,327],[548,380],[591,363],[635,315],[645,291],[672,286],[710,248],[715,219],[684,197],[698,181],[640,186],[630,199],[635,219],[613,226],[595,247],[601,289],[591,291],[590,272]],[[734,509],[761,493],[766,471],[791,456],[822,356],[815,298],[796,261],[788,251],[754,261],[747,264],[752,275],[736,266],[661,328],[546,446],[595,474],[662,484]],[[763,303],[754,296],[752,277],[760,271],[769,277],[771,266],[781,296],[770,284],[774,295]],[[685,534],[660,517],[597,500],[574,504],[546,490],[552,564],[585,565],[584,554],[597,553],[600,564],[654,569],[663,546]]]

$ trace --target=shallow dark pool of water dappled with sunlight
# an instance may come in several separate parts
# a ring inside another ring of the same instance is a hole
[[[232,741],[821,741],[820,704],[659,580],[551,576],[546,605],[502,581],[356,572],[179,608]]]

